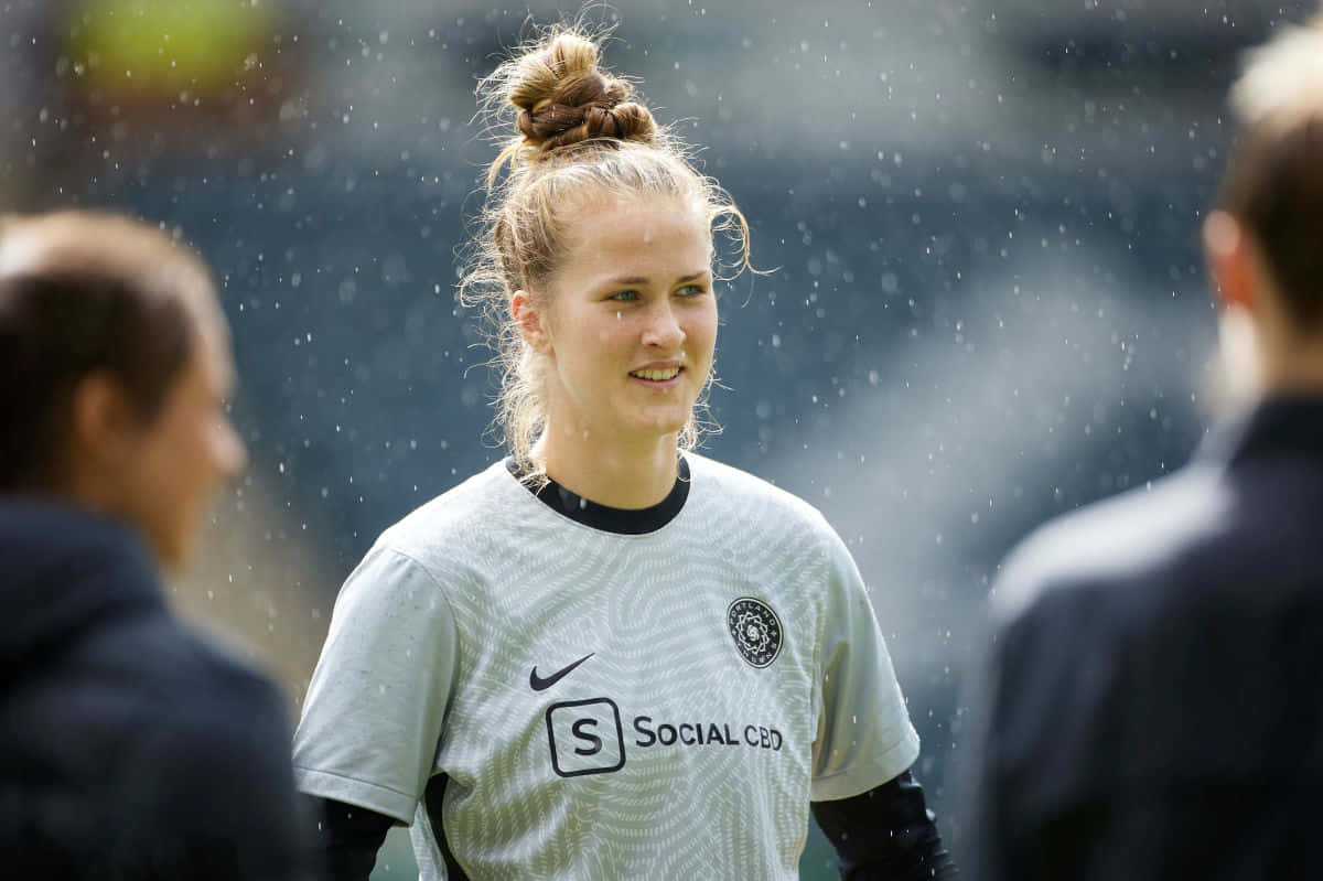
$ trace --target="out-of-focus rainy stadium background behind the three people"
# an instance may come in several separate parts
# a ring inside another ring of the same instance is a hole
[[[747,214],[706,451],[856,554],[959,841],[962,673],[1007,549],[1184,463],[1213,406],[1197,231],[1240,53],[1312,3],[620,0],[607,63]],[[574,12],[573,7],[561,7]],[[253,462],[177,606],[296,712],[388,524],[501,455],[455,251],[476,79],[529,12],[0,0],[0,208],[128,210],[216,270]],[[814,832],[806,878],[833,877]],[[374,878],[411,877],[393,833]],[[717,868],[713,874],[720,874]]]

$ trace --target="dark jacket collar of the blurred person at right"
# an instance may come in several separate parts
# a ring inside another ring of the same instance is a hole
[[[1240,419],[1211,431],[1200,455],[1230,467],[1277,456],[1323,462],[1323,396],[1267,398]]]

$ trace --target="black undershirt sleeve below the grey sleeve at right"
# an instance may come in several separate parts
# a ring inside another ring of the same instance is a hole
[[[845,881],[957,877],[937,818],[910,771],[848,799],[814,802],[814,819],[836,848]]]

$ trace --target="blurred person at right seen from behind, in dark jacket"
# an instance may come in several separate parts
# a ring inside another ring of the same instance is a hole
[[[1008,558],[986,878],[1323,877],[1323,21],[1259,49],[1232,105],[1204,239],[1253,396],[1183,471]]]

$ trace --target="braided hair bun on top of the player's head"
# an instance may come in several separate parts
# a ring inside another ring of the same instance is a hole
[[[598,45],[561,33],[517,61],[508,99],[524,143],[542,152],[591,139],[652,140],[656,123],[630,85],[598,69]]]

